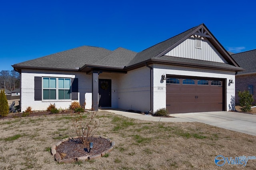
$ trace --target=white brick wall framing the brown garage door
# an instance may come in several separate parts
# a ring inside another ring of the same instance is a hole
[[[212,69],[200,69],[192,67],[172,66],[172,65],[160,65],[154,64],[153,76],[154,76],[154,97],[153,103],[154,112],[159,108],[166,107],[166,81],[161,81],[161,75],[179,75],[179,76],[196,76],[196,77],[212,77],[226,79],[226,111],[232,109],[234,103],[232,99],[235,97],[235,72],[234,71],[221,71]],[[228,84],[229,79],[233,79],[234,84]],[[163,90],[159,90],[158,87],[163,87]]]

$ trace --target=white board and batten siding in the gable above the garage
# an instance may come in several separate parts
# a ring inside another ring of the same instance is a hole
[[[228,63],[206,38],[202,40],[201,48],[196,48],[195,43],[195,38],[188,38],[165,55],[218,63]]]

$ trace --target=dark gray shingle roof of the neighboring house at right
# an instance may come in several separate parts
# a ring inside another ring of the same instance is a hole
[[[232,54],[231,56],[240,67],[245,69],[245,71],[240,71],[238,74],[256,72],[256,49]]]

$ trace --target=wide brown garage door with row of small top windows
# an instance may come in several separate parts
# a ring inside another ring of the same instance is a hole
[[[222,86],[222,80],[168,78],[166,109],[170,113],[222,111]]]

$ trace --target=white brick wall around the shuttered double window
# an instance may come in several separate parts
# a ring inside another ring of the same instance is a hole
[[[80,105],[84,104],[84,95],[86,92],[92,92],[91,75],[80,72],[65,71],[48,71],[48,70],[28,70],[22,69],[21,73],[21,111],[25,111],[27,107],[32,107],[34,111],[46,110],[50,103],[55,103],[57,108],[65,109],[71,104],[70,101],[34,101],[34,77],[66,77],[78,78]]]

